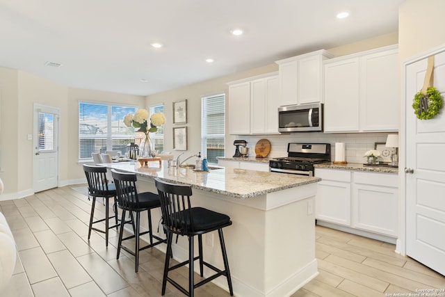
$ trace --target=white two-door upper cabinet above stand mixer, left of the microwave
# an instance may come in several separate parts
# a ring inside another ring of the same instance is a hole
[[[229,84],[229,134],[278,134],[278,74]]]

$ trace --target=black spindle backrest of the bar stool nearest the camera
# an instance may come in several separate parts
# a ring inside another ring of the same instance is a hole
[[[161,199],[163,224],[171,232],[185,235],[194,232],[190,196],[191,186],[171,184],[159,178],[154,179]]]

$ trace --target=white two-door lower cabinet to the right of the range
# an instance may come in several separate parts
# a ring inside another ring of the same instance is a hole
[[[322,179],[316,195],[317,220],[364,236],[397,237],[398,175],[316,168],[315,176]]]

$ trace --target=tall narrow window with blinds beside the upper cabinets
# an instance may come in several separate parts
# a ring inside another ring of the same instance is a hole
[[[201,98],[201,154],[218,163],[225,149],[225,94]]]

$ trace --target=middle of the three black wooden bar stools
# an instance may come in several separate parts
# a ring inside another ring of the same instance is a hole
[[[118,207],[122,209],[122,219],[124,221],[125,214],[129,211],[131,224],[133,225],[134,234],[131,236],[127,236],[122,238],[124,233],[124,224],[120,225],[120,233],[119,233],[119,242],[118,242],[118,255],[117,259],[119,259],[120,249],[123,248],[131,255],[135,257],[135,272],[138,272],[139,268],[139,252],[140,250],[145,250],[146,248],[152,248],[153,246],[158,245],[159,243],[166,243],[165,239],[161,239],[159,236],[156,236],[152,232],[152,209],[157,207],[161,207],[161,201],[159,200],[159,196],[156,193],[143,192],[138,193],[136,190],[136,174],[127,173],[127,172],[118,172],[115,169],[111,170],[111,174],[113,175],[114,183],[116,185],[116,191],[118,193]],[[145,232],[140,232],[140,213],[142,211],[147,211],[148,216],[148,230]],[[136,214],[136,219],[134,218],[134,214]],[[125,222],[128,223],[128,222]],[[144,234],[149,234],[150,243],[143,248],[140,248],[139,238]],[[122,241],[128,239],[136,239],[136,246],[134,251],[129,248],[122,246]],[[153,239],[156,239],[156,242],[153,242]]]

